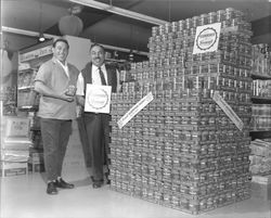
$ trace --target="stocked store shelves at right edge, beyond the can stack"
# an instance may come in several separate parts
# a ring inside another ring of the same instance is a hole
[[[268,181],[271,172],[268,164],[271,141],[271,59],[268,50],[267,44],[253,46],[253,117],[249,132],[253,190],[263,185],[258,183],[258,178]]]

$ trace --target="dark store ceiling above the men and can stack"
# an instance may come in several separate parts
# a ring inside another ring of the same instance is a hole
[[[261,29],[262,35],[270,36],[271,33],[271,3],[268,0],[98,1],[168,22],[185,20],[220,9],[235,8],[247,12],[250,22],[263,21],[266,30]],[[2,0],[1,4],[2,26],[37,33],[42,30],[50,35],[61,35],[57,22],[68,14],[68,9],[75,5],[69,0]],[[83,22],[83,30],[79,37],[115,47],[147,51],[153,24],[88,7],[83,7],[78,16]],[[270,40],[269,38],[271,37],[266,36],[266,40]]]

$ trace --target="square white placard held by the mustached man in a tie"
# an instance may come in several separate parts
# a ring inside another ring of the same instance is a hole
[[[86,89],[85,112],[108,114],[112,87],[87,84]]]

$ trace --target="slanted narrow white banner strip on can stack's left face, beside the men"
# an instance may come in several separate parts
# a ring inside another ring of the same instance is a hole
[[[121,129],[132,117],[134,117],[142,108],[153,101],[153,93],[149,92],[136,105],[133,105],[118,121],[118,128]]]

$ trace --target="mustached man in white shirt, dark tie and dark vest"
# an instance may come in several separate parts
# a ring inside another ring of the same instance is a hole
[[[118,72],[115,67],[104,64],[105,51],[101,44],[94,43],[90,48],[90,63],[81,70],[77,80],[77,102],[85,106],[87,84],[111,86],[112,92],[119,90]],[[90,148],[93,167],[93,188],[101,188],[103,184],[104,162],[107,162],[109,142],[109,114],[81,113],[81,123],[86,132],[80,131],[81,141],[86,141]],[[106,163],[107,165],[108,163]],[[107,176],[107,175],[105,175]],[[107,180],[108,181],[108,180]]]

